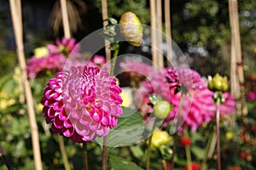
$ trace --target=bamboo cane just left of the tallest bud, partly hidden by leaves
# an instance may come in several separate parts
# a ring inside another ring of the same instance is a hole
[[[103,20],[103,27],[105,28],[108,26],[108,0],[102,0],[102,20]],[[106,20],[106,21],[104,21]],[[110,44],[108,40],[105,41],[105,55],[107,62],[111,59],[111,50],[110,50]]]

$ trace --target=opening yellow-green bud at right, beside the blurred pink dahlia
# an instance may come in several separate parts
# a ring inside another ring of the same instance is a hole
[[[218,73],[213,78],[208,77],[208,88],[212,91],[227,91],[229,88],[227,77],[221,77]]]

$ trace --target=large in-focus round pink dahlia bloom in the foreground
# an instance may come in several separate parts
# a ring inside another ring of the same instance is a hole
[[[55,133],[81,143],[105,136],[117,126],[122,115],[120,93],[107,71],[73,66],[49,80],[41,104]]]

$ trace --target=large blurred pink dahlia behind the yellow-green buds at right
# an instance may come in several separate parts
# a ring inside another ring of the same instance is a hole
[[[166,122],[177,119],[182,93],[181,117],[184,121],[183,127],[189,126],[195,131],[203,122],[210,122],[215,109],[212,103],[213,93],[207,88],[207,84],[201,80],[200,74],[183,67],[166,68],[164,72],[170,87],[171,105],[174,106],[170,115],[166,117]],[[177,91],[178,87],[183,87],[183,92]]]

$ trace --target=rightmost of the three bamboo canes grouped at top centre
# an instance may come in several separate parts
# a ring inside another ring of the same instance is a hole
[[[165,25],[166,25],[166,58],[167,64],[171,65],[172,61],[172,31],[171,31],[171,0],[165,0]]]

